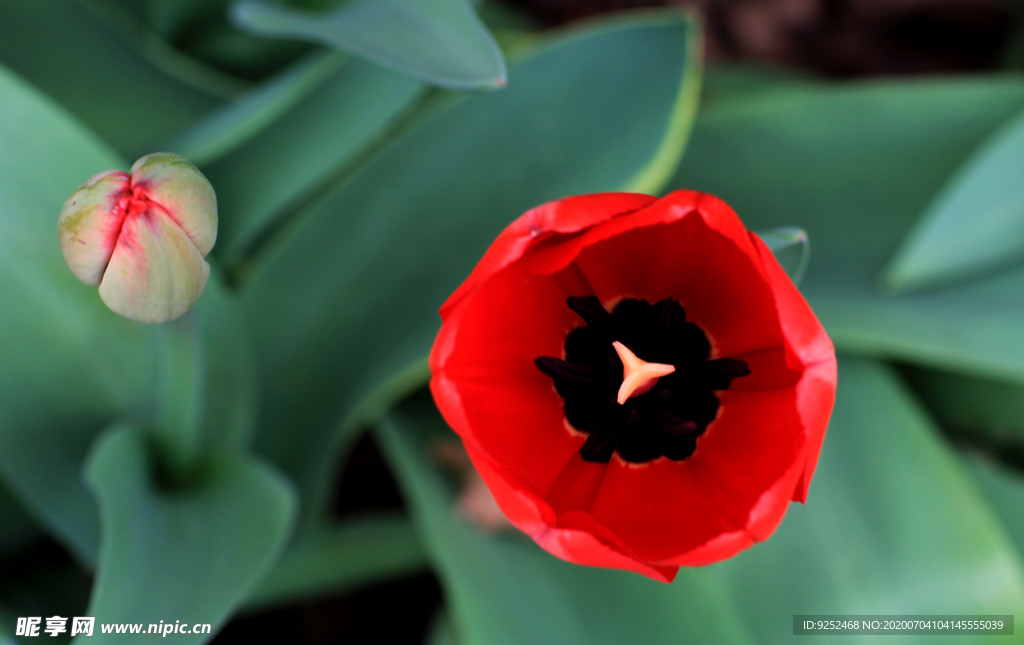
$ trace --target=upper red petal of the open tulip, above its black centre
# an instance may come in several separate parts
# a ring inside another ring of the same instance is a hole
[[[606,306],[622,297],[676,298],[715,356],[785,344],[757,248],[735,213],[710,196],[673,192],[526,261],[544,274],[574,264]]]

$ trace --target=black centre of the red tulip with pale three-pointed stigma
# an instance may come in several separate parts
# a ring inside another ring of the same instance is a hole
[[[710,360],[711,343],[673,298],[625,299],[612,312],[594,296],[566,299],[586,322],[565,339],[565,358],[540,356],[564,401],[566,420],[587,441],[584,460],[682,461],[718,414],[716,391],[748,376],[746,362]]]

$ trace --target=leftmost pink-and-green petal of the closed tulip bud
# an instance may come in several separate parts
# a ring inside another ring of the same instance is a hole
[[[86,285],[98,285],[111,261],[125,218],[125,211],[118,208],[118,198],[128,187],[128,173],[96,173],[72,192],[60,209],[60,250],[72,273]]]

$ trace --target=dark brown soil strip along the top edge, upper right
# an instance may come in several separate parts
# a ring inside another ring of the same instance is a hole
[[[514,0],[547,25],[652,5],[696,7],[711,60],[827,76],[990,70],[1015,58],[1011,0]]]

